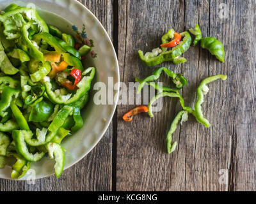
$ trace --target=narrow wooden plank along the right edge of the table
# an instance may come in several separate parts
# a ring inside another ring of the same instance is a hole
[[[255,8],[255,1],[234,1],[230,4],[230,24],[234,27],[230,38],[237,36],[229,46],[230,73],[234,73],[230,78],[230,98],[235,103],[231,120],[234,151],[230,190],[233,191],[256,190]]]

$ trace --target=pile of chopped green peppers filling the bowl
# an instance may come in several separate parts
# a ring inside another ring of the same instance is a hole
[[[75,47],[79,43],[79,47]],[[31,163],[54,159],[56,177],[65,163],[61,142],[83,127],[95,68],[81,59],[91,47],[47,25],[36,10],[10,4],[0,15],[0,168],[9,157],[12,179]]]

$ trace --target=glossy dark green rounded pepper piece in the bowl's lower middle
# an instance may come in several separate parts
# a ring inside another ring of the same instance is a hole
[[[40,101],[32,107],[29,115],[29,122],[43,122],[51,116],[54,110],[54,105],[50,101]]]

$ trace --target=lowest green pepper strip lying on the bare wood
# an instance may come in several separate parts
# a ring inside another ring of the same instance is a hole
[[[172,122],[170,131],[167,134],[166,142],[167,142],[168,154],[171,154],[172,152],[174,152],[177,147],[177,142],[174,142],[172,144],[172,134],[176,131],[179,120],[181,120],[181,124],[182,122],[186,122],[188,120],[188,112],[186,110],[183,110],[178,113],[178,115],[175,117],[175,119]]]

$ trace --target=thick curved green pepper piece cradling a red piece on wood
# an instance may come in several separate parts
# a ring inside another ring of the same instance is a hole
[[[186,62],[186,59],[180,57],[180,55],[189,49],[192,38],[187,31],[181,33],[180,35],[182,36],[183,40],[180,41],[179,45],[173,47],[172,50],[163,52],[160,48],[156,48],[152,50],[152,52],[148,52],[145,55],[143,54],[142,50],[139,50],[138,54],[143,64],[146,66],[156,66],[157,64],[161,64],[162,62],[166,61],[172,61],[176,64]]]

